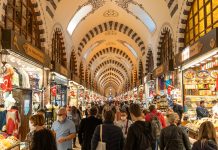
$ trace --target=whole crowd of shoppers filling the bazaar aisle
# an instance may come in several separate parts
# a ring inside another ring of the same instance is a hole
[[[29,119],[26,140],[31,150],[72,150],[77,137],[82,150],[217,150],[209,121],[200,126],[198,140],[190,143],[181,126],[182,107],[173,103],[166,117],[155,105],[144,110],[136,103],[93,105],[84,114],[75,106],[62,107],[51,129],[46,129],[39,111]]]

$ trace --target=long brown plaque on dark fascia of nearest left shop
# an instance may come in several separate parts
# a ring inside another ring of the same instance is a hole
[[[45,56],[42,52],[40,52],[38,49],[36,49],[35,47],[33,47],[32,45],[30,45],[29,43],[25,43],[23,45],[23,48],[25,50],[25,53],[31,57],[33,57],[34,59],[40,61],[41,63],[44,64],[44,60],[45,60]]]

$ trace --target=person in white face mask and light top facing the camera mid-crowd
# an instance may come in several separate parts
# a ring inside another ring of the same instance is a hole
[[[129,127],[132,124],[132,121],[129,120],[127,116],[128,114],[127,114],[126,108],[124,107],[120,109],[120,120],[115,121],[115,125],[121,128],[124,139],[126,139]]]

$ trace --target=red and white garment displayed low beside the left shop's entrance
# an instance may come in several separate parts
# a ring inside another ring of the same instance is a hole
[[[8,135],[13,135],[18,138],[19,128],[21,125],[20,114],[18,110],[11,109],[6,116],[6,130]]]

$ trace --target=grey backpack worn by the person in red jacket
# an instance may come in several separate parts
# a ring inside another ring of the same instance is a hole
[[[159,118],[157,117],[157,115],[150,114],[150,117],[151,117],[151,122],[150,122],[151,123],[151,135],[153,139],[159,139],[160,132],[162,129],[161,122]]]

